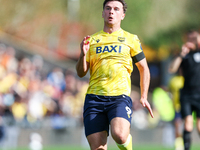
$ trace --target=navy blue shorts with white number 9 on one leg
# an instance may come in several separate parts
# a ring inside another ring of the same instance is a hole
[[[98,96],[87,94],[84,104],[85,135],[107,131],[110,121],[122,117],[131,123],[132,100],[129,96]]]

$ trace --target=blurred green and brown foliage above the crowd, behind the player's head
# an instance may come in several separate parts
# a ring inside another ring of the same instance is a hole
[[[77,58],[85,35],[102,29],[102,0],[0,0],[0,30]],[[122,28],[153,50],[180,47],[189,29],[200,29],[200,1],[126,0]],[[71,49],[75,49],[72,51]],[[153,56],[152,56],[153,57]],[[159,55],[158,55],[159,57]],[[160,56],[162,59],[162,56]]]

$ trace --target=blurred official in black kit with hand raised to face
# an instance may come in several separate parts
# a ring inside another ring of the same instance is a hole
[[[185,80],[180,103],[184,120],[184,147],[185,150],[190,150],[193,113],[196,115],[200,135],[200,35],[197,31],[191,31],[187,36],[188,41],[182,46],[180,55],[171,63],[170,69],[171,72],[176,72],[180,68]]]

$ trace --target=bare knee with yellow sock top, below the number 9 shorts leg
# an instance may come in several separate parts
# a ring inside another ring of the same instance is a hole
[[[116,117],[111,120],[111,134],[121,150],[132,150],[132,136],[130,122],[124,118]]]

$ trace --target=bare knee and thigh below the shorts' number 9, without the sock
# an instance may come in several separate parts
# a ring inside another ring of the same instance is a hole
[[[116,117],[111,120],[111,135],[118,144],[126,142],[130,134],[130,122],[121,117]]]

